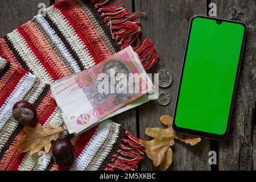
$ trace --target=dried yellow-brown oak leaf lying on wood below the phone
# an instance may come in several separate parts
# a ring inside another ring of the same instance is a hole
[[[194,146],[200,142],[201,138],[176,133],[172,129],[173,118],[170,115],[163,115],[160,121],[166,125],[167,129],[147,128],[146,134],[154,139],[150,141],[140,140],[145,147],[146,154],[150,158],[155,167],[160,166],[160,170],[166,170],[172,163],[172,150],[170,146],[174,146],[174,139]]]

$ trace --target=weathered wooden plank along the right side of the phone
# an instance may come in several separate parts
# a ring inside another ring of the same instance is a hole
[[[254,0],[212,2],[217,5],[218,17],[240,20],[247,24],[246,47],[229,137],[224,142],[219,142],[219,169],[256,169],[256,130],[253,126],[253,107],[256,101],[256,3]]]

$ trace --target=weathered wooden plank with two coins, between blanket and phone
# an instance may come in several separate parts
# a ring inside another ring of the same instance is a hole
[[[160,69],[170,71],[174,83],[170,88],[162,89],[172,98],[168,106],[160,106],[156,101],[144,104],[139,109],[139,131],[142,138],[150,139],[145,134],[146,127],[164,127],[159,118],[161,115],[174,113],[175,99],[179,85],[184,49],[187,40],[189,20],[193,15],[207,15],[206,1],[154,1],[136,0],[135,11],[144,11],[142,17],[143,38],[150,37],[160,55],[160,61],[152,73]],[[197,146],[176,141],[174,147],[172,170],[210,170],[208,139],[202,139]],[[149,159],[142,163],[142,170],[156,169]]]

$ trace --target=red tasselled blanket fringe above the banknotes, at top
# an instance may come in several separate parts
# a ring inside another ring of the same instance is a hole
[[[142,12],[131,13],[127,8],[122,7],[122,1],[115,2],[112,5],[106,5],[109,0],[91,0],[94,7],[98,9],[106,25],[110,28],[113,39],[117,40],[118,46],[124,49],[128,46],[137,44],[134,51],[138,53],[142,65],[146,71],[152,68],[158,61],[159,56],[155,54],[154,44],[150,39],[144,40],[140,45],[139,36],[142,34],[139,26],[139,19],[136,14],[145,14]]]

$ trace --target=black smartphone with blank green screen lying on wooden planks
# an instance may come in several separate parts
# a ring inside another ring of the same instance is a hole
[[[192,17],[175,104],[175,131],[217,140],[228,136],[245,36],[242,22]]]

